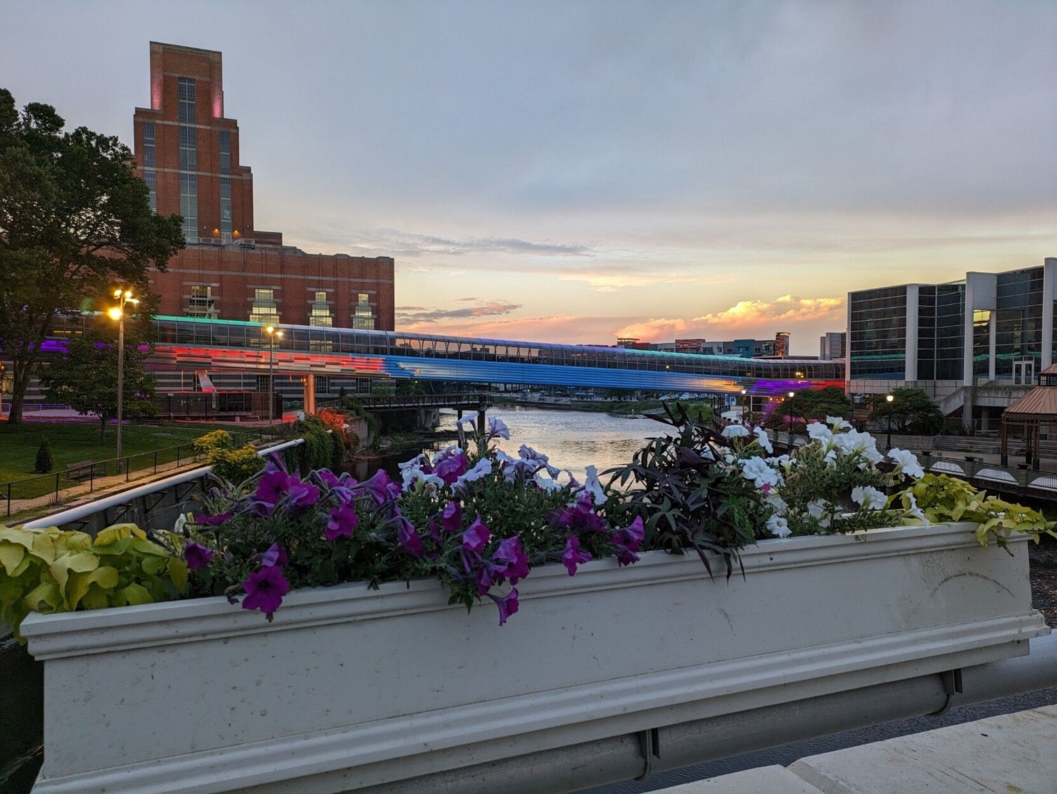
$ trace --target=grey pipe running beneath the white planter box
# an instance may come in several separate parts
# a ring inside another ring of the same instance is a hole
[[[964,668],[962,694],[949,697],[949,677],[922,676],[396,780],[371,794],[562,794],[1057,686],[1057,634],[1031,647],[1026,657]]]

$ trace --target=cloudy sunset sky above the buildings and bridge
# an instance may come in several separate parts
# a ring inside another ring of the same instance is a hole
[[[0,87],[131,146],[219,50],[255,225],[396,328],[818,353],[847,293],[1057,256],[1057,2],[0,0]]]

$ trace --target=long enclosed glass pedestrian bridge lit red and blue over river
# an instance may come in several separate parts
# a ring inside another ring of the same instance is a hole
[[[155,366],[468,383],[784,394],[843,387],[842,361],[741,358],[396,331],[160,316]]]

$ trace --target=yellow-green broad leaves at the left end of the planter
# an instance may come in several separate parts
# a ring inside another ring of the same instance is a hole
[[[178,597],[187,564],[133,524],[115,524],[93,541],[55,527],[0,529],[0,620],[15,629],[32,612],[69,612]]]

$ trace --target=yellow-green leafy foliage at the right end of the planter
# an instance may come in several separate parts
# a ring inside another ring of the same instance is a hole
[[[981,544],[994,538],[1005,547],[1014,532],[1031,534],[1035,542],[1043,534],[1057,537],[1054,521],[1047,521],[1041,512],[1007,502],[986,491],[978,491],[964,480],[947,475],[926,474],[909,488],[896,494],[892,501],[905,509],[916,510],[929,523],[942,521],[972,521]]]

